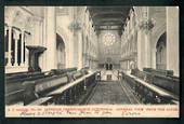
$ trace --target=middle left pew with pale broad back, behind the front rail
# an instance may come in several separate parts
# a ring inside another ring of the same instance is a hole
[[[24,91],[24,105],[38,99],[39,97],[45,96],[48,92],[51,92],[58,86],[68,83],[68,77],[65,75],[54,75],[44,79],[38,79],[35,81],[25,81],[23,86]]]

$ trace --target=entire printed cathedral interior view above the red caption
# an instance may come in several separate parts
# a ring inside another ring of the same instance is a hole
[[[5,6],[5,105],[179,105],[176,6]]]

